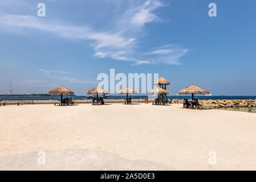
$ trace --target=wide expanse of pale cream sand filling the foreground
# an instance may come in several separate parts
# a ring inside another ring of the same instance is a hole
[[[256,170],[256,114],[180,107],[0,107],[0,169]]]

